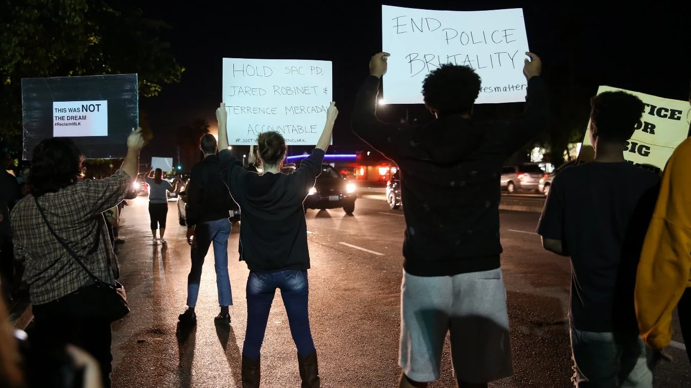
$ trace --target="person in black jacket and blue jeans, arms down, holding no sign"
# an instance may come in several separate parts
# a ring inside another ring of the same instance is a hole
[[[207,133],[202,136],[200,148],[204,153],[204,160],[192,167],[186,190],[187,241],[192,246],[192,268],[187,276],[187,310],[179,318],[180,322],[194,322],[197,319],[194,307],[199,295],[202,266],[213,242],[220,305],[220,313],[214,319],[216,323],[229,324],[229,306],[233,305],[233,296],[228,275],[228,237],[231,233],[228,218],[234,202],[221,179],[220,161],[216,156],[218,146],[214,135]]]

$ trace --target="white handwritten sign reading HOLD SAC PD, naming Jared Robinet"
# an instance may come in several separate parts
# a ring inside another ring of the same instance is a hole
[[[274,130],[287,144],[314,145],[331,101],[330,61],[223,59],[229,144],[256,144]]]

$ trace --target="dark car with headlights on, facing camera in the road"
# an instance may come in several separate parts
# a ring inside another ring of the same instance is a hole
[[[343,179],[332,166],[322,164],[321,174],[305,198],[305,213],[310,208],[343,208],[346,214],[351,215],[355,211],[355,200],[355,184]]]

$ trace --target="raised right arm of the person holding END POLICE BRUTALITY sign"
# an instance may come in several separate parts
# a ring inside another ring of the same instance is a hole
[[[549,106],[547,104],[547,86],[540,77],[542,61],[532,52],[526,52],[531,60],[525,60],[523,74],[528,81],[526,104],[522,115],[508,122],[502,128],[500,141],[506,155],[513,155],[527,142],[547,128]]]

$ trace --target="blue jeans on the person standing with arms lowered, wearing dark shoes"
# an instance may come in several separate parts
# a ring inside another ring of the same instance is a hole
[[[209,252],[211,242],[214,242],[218,304],[222,307],[233,305],[233,295],[228,276],[228,237],[230,231],[230,221],[227,218],[197,224],[191,251],[192,269],[187,276],[187,306],[194,307],[197,304],[199,283],[202,280],[202,266],[204,266],[204,258]]]

